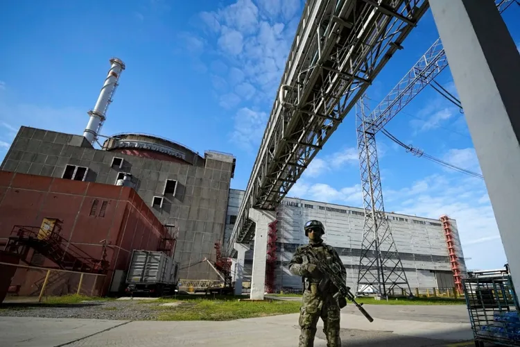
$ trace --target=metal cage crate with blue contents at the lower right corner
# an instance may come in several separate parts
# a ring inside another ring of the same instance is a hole
[[[520,346],[519,303],[510,275],[462,280],[476,346]]]

